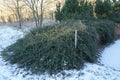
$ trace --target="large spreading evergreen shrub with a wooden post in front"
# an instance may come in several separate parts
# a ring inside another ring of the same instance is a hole
[[[77,48],[74,45],[75,30],[78,30]],[[96,31],[80,21],[67,21],[31,33],[3,51],[7,61],[33,73],[56,73],[79,69],[85,61],[94,62],[96,59]],[[9,55],[8,52],[13,53]]]

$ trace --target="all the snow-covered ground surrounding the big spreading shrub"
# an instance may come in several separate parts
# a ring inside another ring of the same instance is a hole
[[[0,27],[0,51],[22,38],[24,32],[12,27]],[[0,80],[120,80],[120,40],[102,52],[100,62],[85,63],[82,70],[69,70],[57,75],[32,75],[24,69],[17,68],[0,56]],[[0,53],[1,54],[1,53]]]

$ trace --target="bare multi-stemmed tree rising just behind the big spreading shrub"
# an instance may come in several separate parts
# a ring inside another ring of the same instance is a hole
[[[24,0],[31,9],[36,27],[41,27],[43,22],[43,0]]]

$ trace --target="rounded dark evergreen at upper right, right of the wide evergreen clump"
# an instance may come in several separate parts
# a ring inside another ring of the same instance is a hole
[[[97,0],[95,6],[95,13],[99,18],[106,18],[112,13],[112,5],[110,0]]]

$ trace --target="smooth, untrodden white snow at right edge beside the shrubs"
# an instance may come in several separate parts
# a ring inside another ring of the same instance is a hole
[[[115,41],[115,43],[103,51],[101,62],[114,68],[120,70],[120,40]]]

